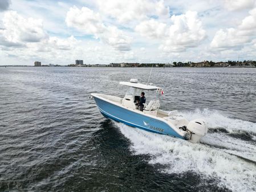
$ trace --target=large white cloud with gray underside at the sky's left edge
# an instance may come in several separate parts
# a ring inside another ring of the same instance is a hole
[[[70,36],[50,36],[41,19],[25,18],[15,11],[6,11],[0,29],[0,49],[20,60],[64,58],[80,51],[79,41]],[[68,50],[68,54],[67,51]]]

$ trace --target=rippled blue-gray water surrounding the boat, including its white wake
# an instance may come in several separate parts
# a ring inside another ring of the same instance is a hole
[[[256,69],[154,68],[161,109],[209,122],[201,144],[107,120],[89,99],[150,70],[0,67],[0,191],[255,191]]]

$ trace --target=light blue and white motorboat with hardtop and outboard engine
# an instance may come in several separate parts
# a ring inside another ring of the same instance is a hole
[[[129,87],[123,98],[100,93],[91,94],[104,117],[150,132],[189,140],[193,143],[199,142],[200,138],[207,133],[208,125],[205,120],[188,121],[178,115],[177,111],[163,111],[159,109],[160,101],[157,99],[144,104],[143,111],[140,111],[136,105],[137,100],[140,100],[138,93],[147,90],[161,94],[162,88],[152,84],[141,84],[137,79],[131,79],[129,82],[122,81],[120,84]]]

